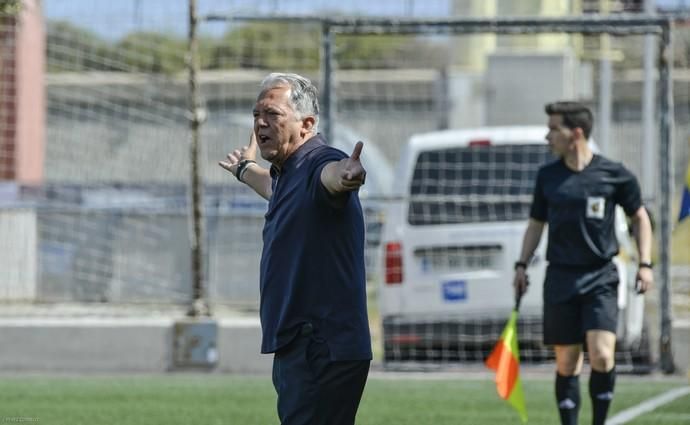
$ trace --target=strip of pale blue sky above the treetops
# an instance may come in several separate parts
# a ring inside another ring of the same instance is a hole
[[[350,14],[443,17],[452,0],[197,0],[199,13],[235,15]],[[688,8],[690,0],[656,0],[664,9]],[[48,19],[68,20],[117,39],[137,29],[185,34],[187,0],[43,0]],[[220,34],[227,25],[207,23],[201,31]]]

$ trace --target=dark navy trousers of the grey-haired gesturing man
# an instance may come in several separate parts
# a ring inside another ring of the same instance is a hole
[[[273,358],[281,425],[353,425],[369,364],[332,361],[324,340],[297,336]]]

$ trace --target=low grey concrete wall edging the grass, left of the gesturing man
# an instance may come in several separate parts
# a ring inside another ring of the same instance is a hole
[[[0,372],[156,373],[173,370],[173,318],[1,318]],[[256,318],[218,322],[224,373],[269,373]]]

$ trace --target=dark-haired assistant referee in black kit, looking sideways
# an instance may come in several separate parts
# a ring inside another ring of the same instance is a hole
[[[592,368],[592,424],[604,424],[613,398],[618,317],[615,208],[632,219],[639,256],[637,291],[653,283],[652,228],[635,176],[587,144],[592,112],[578,102],[546,105],[546,140],[559,157],[539,169],[530,220],[515,263],[516,296],[527,290],[527,266],[548,223],[544,343],[556,352],[556,400],[562,424],[577,424],[583,343]]]

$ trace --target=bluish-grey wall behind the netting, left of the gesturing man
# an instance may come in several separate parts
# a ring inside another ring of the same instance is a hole
[[[38,217],[37,300],[185,304],[191,299],[184,211],[42,211]],[[214,302],[257,305],[262,226],[263,217],[246,213],[208,217],[205,278]],[[22,238],[17,234],[14,240]]]

